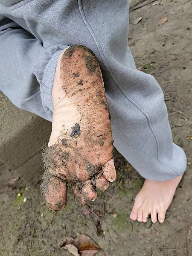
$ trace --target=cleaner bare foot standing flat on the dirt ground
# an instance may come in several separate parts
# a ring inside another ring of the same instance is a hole
[[[137,194],[133,209],[130,214],[131,220],[146,222],[148,215],[151,215],[151,221],[163,223],[166,210],[173,200],[175,190],[180,183],[183,175],[167,181],[145,180],[142,189]]]

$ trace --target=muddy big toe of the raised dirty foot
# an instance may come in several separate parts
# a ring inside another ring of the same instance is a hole
[[[48,175],[40,187],[50,209],[58,211],[67,206],[67,184],[64,180]]]

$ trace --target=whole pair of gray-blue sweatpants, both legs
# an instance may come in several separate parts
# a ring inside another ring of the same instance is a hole
[[[136,69],[128,47],[127,0],[0,0],[0,89],[18,108],[52,120],[52,82],[58,56],[86,45],[99,60],[114,145],[150,180],[186,169],[172,142],[163,92]]]

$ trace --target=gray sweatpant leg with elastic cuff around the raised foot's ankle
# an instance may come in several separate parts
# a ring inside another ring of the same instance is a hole
[[[0,15],[0,90],[18,108],[52,120],[52,81],[64,45],[41,42]]]

